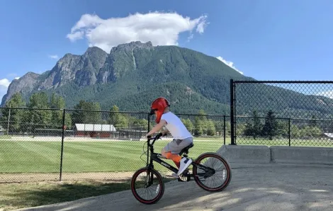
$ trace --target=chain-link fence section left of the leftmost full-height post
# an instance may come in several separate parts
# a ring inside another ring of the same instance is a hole
[[[59,181],[62,111],[1,108],[0,114],[0,182]]]

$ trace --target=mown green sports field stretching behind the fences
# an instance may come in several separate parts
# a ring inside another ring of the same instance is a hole
[[[207,139],[206,139],[207,140]],[[168,141],[155,142],[155,152],[161,149]],[[311,140],[293,140],[292,144],[298,146],[333,147],[333,142]],[[15,141],[12,139],[0,140],[0,173],[58,173],[60,171],[61,142],[30,142]],[[119,142],[64,142],[63,172],[96,172],[96,171],[135,171],[145,166],[146,155],[142,147],[145,142],[119,141]],[[226,144],[230,144],[227,139]],[[288,140],[245,140],[237,139],[237,144],[257,145],[285,145]],[[223,145],[223,139],[196,138],[195,145],[190,149],[189,156],[195,158],[204,152],[216,152]],[[145,145],[147,150],[147,144]],[[173,164],[172,161],[168,161]],[[156,165],[158,170],[164,166]]]

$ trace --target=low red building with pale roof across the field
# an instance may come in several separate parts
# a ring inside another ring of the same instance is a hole
[[[108,138],[116,132],[113,125],[101,124],[75,124],[74,135],[76,137]]]

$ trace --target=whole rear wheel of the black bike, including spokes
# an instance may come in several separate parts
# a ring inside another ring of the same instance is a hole
[[[193,165],[194,181],[196,181],[200,188],[203,188],[203,190],[207,190],[210,192],[217,192],[227,188],[232,178],[232,170],[230,164],[224,157],[214,152],[208,152],[198,156],[198,158],[194,162],[198,164],[198,166]],[[217,164],[217,162],[220,162],[220,164]],[[213,173],[205,170],[204,167],[213,169]],[[214,167],[218,167],[218,170],[216,170]],[[222,175],[217,176],[217,173],[220,173],[220,169]],[[209,181],[211,181],[211,179],[213,178],[217,178],[217,186],[208,186],[208,184],[212,183]]]

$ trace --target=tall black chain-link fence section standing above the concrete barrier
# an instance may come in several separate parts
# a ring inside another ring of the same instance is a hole
[[[333,81],[231,81],[232,144],[333,147]]]

